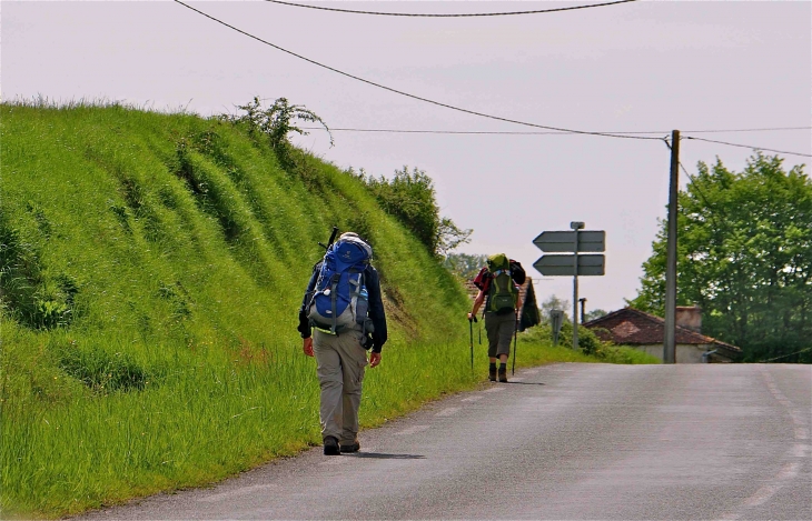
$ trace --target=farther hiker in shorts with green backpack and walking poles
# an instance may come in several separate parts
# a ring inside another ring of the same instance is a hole
[[[485,303],[485,331],[488,338],[488,379],[507,382],[507,358],[511,354],[511,340],[516,334],[522,298],[518,285],[525,282],[526,274],[522,264],[508,259],[504,253],[488,257],[487,265],[479,270],[474,285],[479,290],[468,321],[476,320],[483,302]],[[514,353],[515,355],[515,353]],[[498,371],[496,360],[499,361]]]

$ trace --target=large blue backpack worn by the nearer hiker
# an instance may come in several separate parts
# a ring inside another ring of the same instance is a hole
[[[331,334],[350,329],[372,332],[364,270],[373,249],[357,237],[339,239],[327,249],[307,308],[310,325]]]

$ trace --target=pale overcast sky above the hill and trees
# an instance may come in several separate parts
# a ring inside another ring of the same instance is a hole
[[[305,3],[305,0],[301,0]],[[583,2],[310,2],[390,12],[495,12]],[[438,102],[542,126],[588,131],[809,127],[812,3],[634,2],[542,14],[402,18],[265,1],[191,2],[291,52]],[[331,128],[534,131],[406,98],[265,46],[171,1],[3,1],[2,99],[119,100],[154,110],[234,111],[258,94],[286,97]],[[539,130],[541,131],[541,130]],[[809,130],[699,134],[812,153]],[[528,273],[532,240],[574,220],[606,230],[606,275],[581,279],[587,310],[634,298],[665,217],[662,141],[604,137],[335,131],[296,142],[343,168],[434,179],[444,216],[473,228],[468,253],[504,251]],[[682,163],[752,154],[682,142]],[[809,158],[784,156],[785,166]],[[806,169],[809,172],[809,169]],[[681,173],[684,184],[684,176]],[[327,232],[327,231],[326,231]],[[536,281],[539,300],[572,299],[571,278]]]

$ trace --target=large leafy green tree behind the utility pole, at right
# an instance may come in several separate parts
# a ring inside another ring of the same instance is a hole
[[[679,204],[677,304],[697,303],[703,332],[741,347],[744,361],[812,362],[812,181],[803,166],[785,171],[760,152],[742,172],[700,162]],[[630,302],[661,315],[666,227]]]

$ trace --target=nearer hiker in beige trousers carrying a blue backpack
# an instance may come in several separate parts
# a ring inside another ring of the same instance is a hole
[[[369,244],[346,232],[326,248],[324,259],[313,268],[298,331],[305,354],[316,357],[324,453],[336,455],[360,450],[358,408],[364,371],[367,364],[380,363],[387,331]]]

